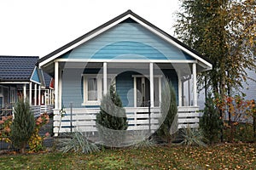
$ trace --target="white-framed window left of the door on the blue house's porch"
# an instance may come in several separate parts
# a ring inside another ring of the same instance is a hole
[[[107,87],[114,83],[115,75],[108,75]],[[82,105],[100,105],[103,95],[102,74],[84,74],[84,103]]]

